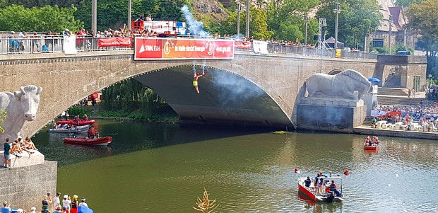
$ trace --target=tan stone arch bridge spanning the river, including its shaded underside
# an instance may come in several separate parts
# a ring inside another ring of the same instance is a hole
[[[0,57],[1,91],[42,86],[37,120],[22,135],[35,134],[57,115],[95,91],[136,78],[164,98],[183,121],[293,127],[304,81],[315,73],[355,69],[373,76],[376,60],[237,53],[234,59],[134,61],[133,50],[14,54]],[[195,66],[194,66],[195,65]],[[193,68],[206,76],[196,93]],[[413,68],[413,70],[417,70]]]

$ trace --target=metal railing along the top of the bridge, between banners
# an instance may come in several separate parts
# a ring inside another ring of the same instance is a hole
[[[98,47],[99,38],[76,38],[76,50],[78,52],[88,51],[114,51],[114,50],[133,50],[131,47]],[[134,38],[133,44],[134,44]],[[64,51],[64,38],[62,35],[32,35],[32,38],[8,38],[3,35],[0,38],[0,54],[40,54]],[[239,50],[252,52],[249,50]],[[302,45],[276,45],[268,44],[268,52],[271,54],[300,54],[313,57],[336,57],[335,50],[317,49]],[[341,58],[348,59],[377,59],[377,54],[365,52],[342,52]]]

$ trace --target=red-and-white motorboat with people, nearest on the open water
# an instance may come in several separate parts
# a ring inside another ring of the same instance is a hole
[[[342,178],[318,173],[315,178],[298,178],[298,193],[315,202],[341,202],[344,200],[342,193]]]

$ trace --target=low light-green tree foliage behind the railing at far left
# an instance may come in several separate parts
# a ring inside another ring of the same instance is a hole
[[[71,8],[7,6],[0,8],[0,31],[61,32],[65,28],[77,30],[81,28],[82,22],[75,20],[74,11],[76,11],[74,6]]]

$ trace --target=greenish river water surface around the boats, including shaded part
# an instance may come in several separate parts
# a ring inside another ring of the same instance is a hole
[[[86,197],[95,212],[197,212],[203,188],[217,212],[437,212],[438,143],[329,132],[273,134],[266,129],[97,120],[112,144],[63,144],[40,132],[33,141],[58,161],[58,191]],[[294,173],[298,168],[300,173]],[[343,175],[348,169],[350,175]],[[297,178],[343,177],[342,203],[297,196]]]

